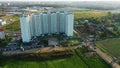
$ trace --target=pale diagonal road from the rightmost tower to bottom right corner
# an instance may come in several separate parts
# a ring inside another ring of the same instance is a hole
[[[107,55],[106,53],[104,53],[103,51],[101,51],[99,48],[93,46],[93,44],[90,44],[90,41],[87,41],[88,39],[86,39],[85,37],[83,37],[83,35],[81,36],[81,33],[79,32],[79,30],[75,29],[78,33],[79,36],[81,37],[82,40],[84,40],[86,42],[86,45],[89,46],[89,48],[91,48],[92,50],[96,51],[96,53],[103,58],[106,62],[108,62],[109,64],[111,64],[111,66],[113,68],[120,68],[120,65],[116,62],[114,62],[114,59]]]

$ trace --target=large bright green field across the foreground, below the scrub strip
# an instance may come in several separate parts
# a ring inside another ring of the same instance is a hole
[[[0,68],[111,68],[97,55],[86,57],[81,49],[75,50],[74,53],[75,55],[69,58],[46,61],[9,59],[9,61],[3,61]]]

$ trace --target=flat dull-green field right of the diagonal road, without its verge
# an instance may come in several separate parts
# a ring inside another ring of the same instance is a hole
[[[120,38],[107,39],[99,41],[110,53],[115,56],[120,56]]]

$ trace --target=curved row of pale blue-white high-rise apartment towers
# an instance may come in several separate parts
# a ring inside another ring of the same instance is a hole
[[[43,12],[20,17],[22,41],[34,36],[65,33],[73,36],[74,15],[68,12]]]

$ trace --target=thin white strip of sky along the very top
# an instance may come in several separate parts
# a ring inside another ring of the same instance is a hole
[[[0,1],[120,1],[120,0],[0,0]]]

